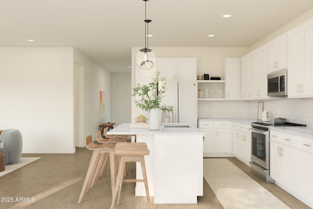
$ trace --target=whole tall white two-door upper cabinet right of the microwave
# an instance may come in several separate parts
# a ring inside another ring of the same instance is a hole
[[[288,97],[313,97],[313,19],[287,32]]]

